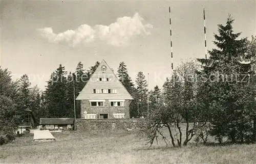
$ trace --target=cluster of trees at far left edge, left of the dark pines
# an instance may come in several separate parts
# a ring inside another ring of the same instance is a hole
[[[40,117],[40,101],[39,88],[31,88],[26,74],[14,81],[11,72],[0,67],[0,145],[15,139],[17,125],[28,125],[27,110]]]

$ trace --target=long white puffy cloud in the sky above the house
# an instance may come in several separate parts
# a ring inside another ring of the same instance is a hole
[[[117,18],[110,25],[97,24],[94,27],[82,24],[76,30],[67,30],[63,33],[54,33],[52,28],[38,29],[43,38],[51,43],[67,43],[71,46],[86,44],[96,40],[104,41],[113,46],[127,45],[138,35],[151,35],[152,24],[143,24],[143,18],[135,13],[133,17]]]

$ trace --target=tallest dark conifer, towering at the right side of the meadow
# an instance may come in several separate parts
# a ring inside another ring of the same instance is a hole
[[[211,134],[220,142],[223,137],[228,137],[234,143],[248,138],[251,127],[247,120],[249,111],[246,106],[252,93],[246,89],[249,78],[243,79],[250,64],[241,63],[246,58],[247,40],[238,39],[241,33],[233,33],[233,21],[229,16],[225,26],[218,25],[219,35],[215,34],[214,41],[218,49],[209,51],[207,60],[199,61],[203,67],[201,73],[208,78],[204,89],[207,106],[211,111],[210,122],[214,125]]]

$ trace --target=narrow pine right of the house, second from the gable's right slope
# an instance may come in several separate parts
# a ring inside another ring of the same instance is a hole
[[[138,75],[136,77],[136,103],[138,106],[138,114],[140,116],[145,116],[146,115],[146,111],[147,111],[147,81],[145,79],[145,75],[143,74],[143,72],[138,72]]]

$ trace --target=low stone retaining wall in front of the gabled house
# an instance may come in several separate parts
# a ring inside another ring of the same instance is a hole
[[[145,119],[77,119],[77,131],[104,131],[140,129],[145,126]]]

